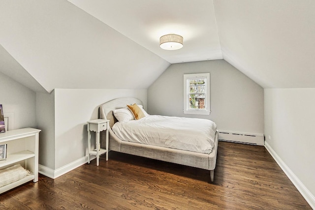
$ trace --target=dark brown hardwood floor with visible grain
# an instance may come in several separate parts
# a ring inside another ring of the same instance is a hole
[[[114,151],[95,162],[3,193],[0,209],[311,209],[262,146],[219,142],[214,182],[207,170]]]

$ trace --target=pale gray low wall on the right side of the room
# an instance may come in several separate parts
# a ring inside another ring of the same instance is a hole
[[[286,174],[314,207],[315,89],[264,91],[266,143],[274,150],[278,161],[286,165]]]

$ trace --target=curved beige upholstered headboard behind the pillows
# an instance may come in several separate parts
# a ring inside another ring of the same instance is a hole
[[[132,104],[139,104],[143,105],[142,101],[136,98],[116,98],[106,103],[103,103],[99,106],[99,119],[106,119],[109,120],[109,126],[113,127],[115,122],[117,122],[116,118],[114,117],[113,110],[125,108],[128,105]]]

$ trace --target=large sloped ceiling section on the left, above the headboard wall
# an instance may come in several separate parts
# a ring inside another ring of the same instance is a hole
[[[0,44],[48,92],[147,89],[170,65],[66,0],[0,2]]]

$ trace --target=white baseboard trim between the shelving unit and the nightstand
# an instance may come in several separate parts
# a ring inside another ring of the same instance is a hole
[[[91,158],[91,160],[95,159],[95,157]],[[59,169],[53,170],[51,168],[48,168],[46,166],[43,165],[38,165],[38,173],[42,174],[46,177],[49,177],[51,179],[56,179],[66,173],[68,173],[69,171],[72,171],[75,168],[78,168],[79,166],[82,166],[84,164],[86,164],[88,162],[88,155],[75,160]]]

